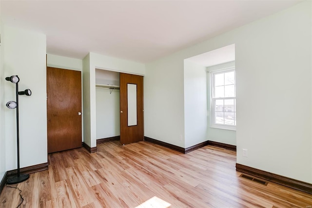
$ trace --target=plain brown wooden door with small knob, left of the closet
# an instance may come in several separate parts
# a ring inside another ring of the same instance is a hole
[[[80,71],[47,67],[47,132],[48,153],[81,147]]]

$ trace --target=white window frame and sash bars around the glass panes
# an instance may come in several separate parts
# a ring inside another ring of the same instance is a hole
[[[235,97],[224,97],[224,98],[215,98],[215,75],[231,72],[234,71],[234,91]],[[212,128],[220,128],[220,129],[227,129],[227,130],[236,130],[236,123],[234,125],[227,125],[227,124],[216,124],[215,123],[215,101],[216,100],[227,100],[227,99],[234,99],[234,109],[236,109],[236,75],[235,75],[235,66],[227,67],[223,69],[218,69],[214,71],[210,71],[210,127]],[[225,111],[223,111],[225,112]],[[236,115],[236,110],[234,111],[234,115]],[[235,118],[236,121],[236,118]]]

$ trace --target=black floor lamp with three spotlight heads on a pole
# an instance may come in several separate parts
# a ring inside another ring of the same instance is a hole
[[[20,78],[17,75],[11,77],[6,77],[6,81],[16,84],[16,102],[9,101],[6,106],[10,109],[16,108],[16,134],[17,134],[17,146],[18,146],[18,175],[9,178],[7,184],[18,184],[20,182],[26,181],[29,178],[29,174],[20,174],[20,126],[19,126],[19,95],[31,95],[30,89],[25,89],[24,91],[19,92],[19,82]]]

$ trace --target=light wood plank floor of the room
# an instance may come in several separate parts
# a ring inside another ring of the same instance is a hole
[[[235,155],[213,146],[182,154],[148,142],[114,141],[99,144],[97,153],[78,148],[50,154],[49,170],[13,186],[22,190],[25,208],[311,208],[310,194],[239,177]],[[19,203],[19,191],[4,187],[0,207]]]

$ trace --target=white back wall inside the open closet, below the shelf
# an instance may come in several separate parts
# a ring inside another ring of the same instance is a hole
[[[96,88],[97,139],[120,135],[119,89]]]

